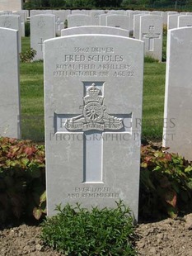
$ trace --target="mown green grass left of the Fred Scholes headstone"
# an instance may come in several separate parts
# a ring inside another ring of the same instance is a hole
[[[30,48],[30,38],[22,38],[22,52]],[[21,63],[21,136],[44,141],[43,62]]]

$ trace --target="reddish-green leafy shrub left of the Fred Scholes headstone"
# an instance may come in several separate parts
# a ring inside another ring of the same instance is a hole
[[[0,138],[0,222],[46,213],[44,146]]]

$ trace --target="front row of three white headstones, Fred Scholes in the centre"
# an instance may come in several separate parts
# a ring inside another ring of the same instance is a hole
[[[0,38],[1,135],[19,138],[18,31],[0,28]],[[191,49],[192,28],[168,31],[163,144],[190,160]],[[44,42],[49,216],[61,202],[122,199],[137,219],[143,54],[143,41],[126,36],[80,32]]]

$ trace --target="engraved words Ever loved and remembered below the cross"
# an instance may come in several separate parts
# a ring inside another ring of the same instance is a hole
[[[119,193],[110,187],[75,187],[73,193],[68,193],[68,198],[119,198]]]

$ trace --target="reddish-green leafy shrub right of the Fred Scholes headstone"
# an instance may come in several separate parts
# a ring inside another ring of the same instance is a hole
[[[172,218],[192,211],[192,165],[165,148],[141,149],[139,215],[143,219]]]

